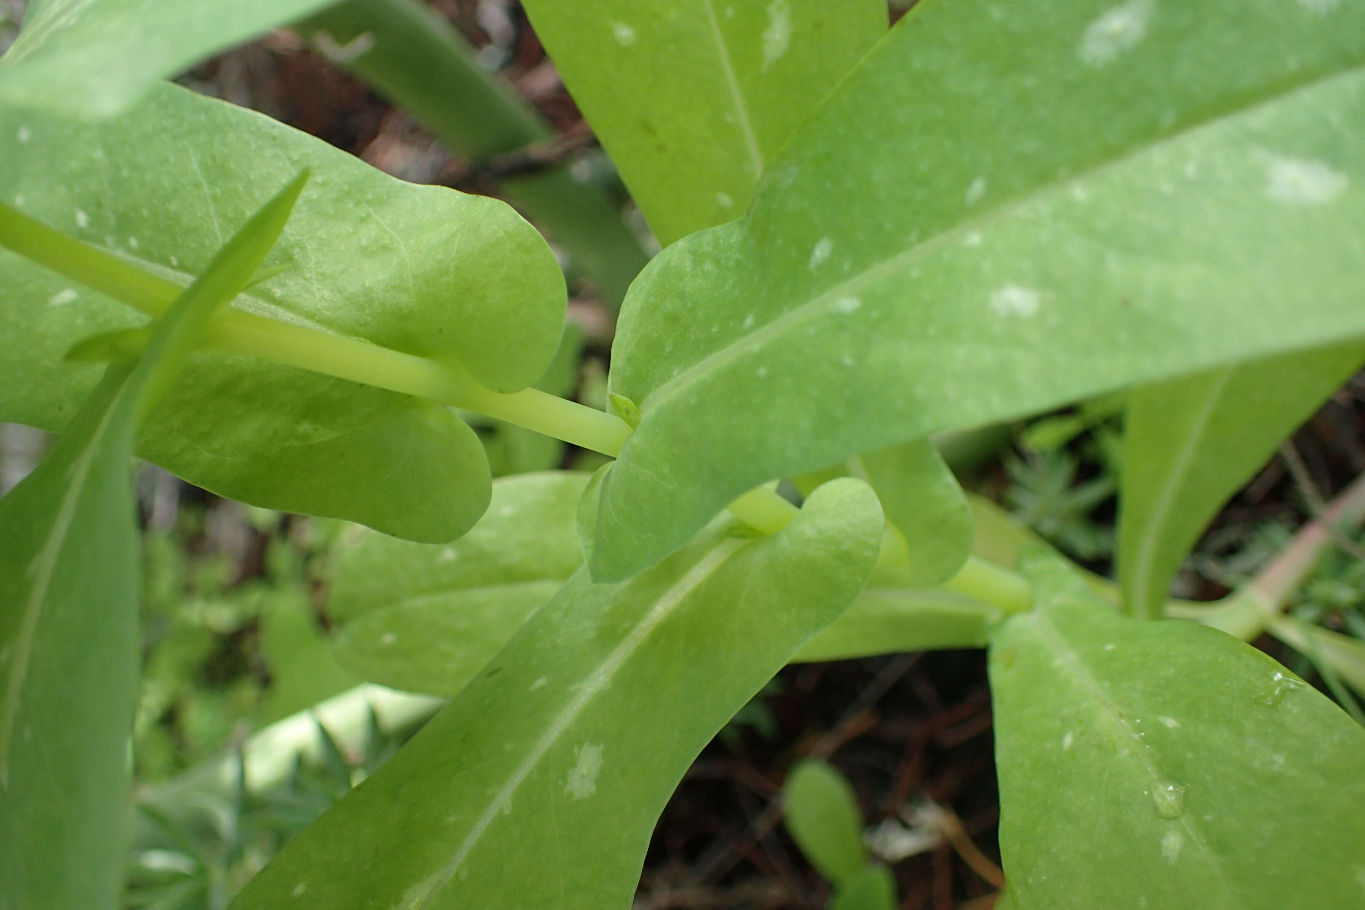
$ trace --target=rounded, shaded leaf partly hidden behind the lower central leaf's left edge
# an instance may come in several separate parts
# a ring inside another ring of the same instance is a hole
[[[487,513],[449,546],[348,535],[329,606],[343,666],[373,682],[455,696],[583,565],[575,509],[587,473],[493,483]]]

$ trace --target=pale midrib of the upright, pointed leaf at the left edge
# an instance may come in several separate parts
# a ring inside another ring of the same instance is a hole
[[[89,482],[90,471],[94,467],[96,450],[100,447],[101,441],[109,431],[109,424],[113,422],[113,417],[120,411],[120,402],[123,393],[127,389],[127,382],[128,379],[126,378],[123,385],[119,387],[119,392],[115,393],[113,398],[109,401],[109,407],[100,417],[100,423],[96,424],[89,443],[72,465],[74,471],[71,472],[71,480],[67,484],[67,491],[61,497],[57,517],[52,523],[52,528],[48,531],[48,538],[38,550],[38,555],[30,563],[37,570],[33,573],[33,587],[29,589],[29,599],[23,606],[23,619],[20,621],[19,637],[15,644],[14,663],[10,667],[10,678],[5,685],[5,701],[4,705],[0,705],[0,784],[7,783],[10,776],[10,746],[14,742],[14,724],[19,718],[19,705],[23,700],[23,689],[29,678],[27,670],[29,659],[33,654],[33,641],[37,637],[38,623],[42,619],[42,608],[48,598],[48,589],[51,588],[52,578],[56,574],[57,562],[61,555],[61,546],[66,542],[67,533],[71,531],[71,524],[75,521],[76,506],[79,505],[82,495],[85,495],[86,483]]]

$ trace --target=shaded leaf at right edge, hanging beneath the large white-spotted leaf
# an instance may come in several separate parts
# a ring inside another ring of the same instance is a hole
[[[1118,548],[1127,613],[1162,615],[1181,559],[1227,498],[1362,362],[1357,342],[1133,390]]]

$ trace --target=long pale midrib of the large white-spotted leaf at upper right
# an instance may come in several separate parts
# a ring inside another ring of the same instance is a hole
[[[639,404],[640,412],[642,412],[642,415],[644,415],[647,411],[650,411],[651,408],[657,407],[658,402],[665,401],[665,400],[673,397],[680,390],[682,390],[682,389],[693,385],[695,382],[700,382],[702,379],[706,378],[707,374],[723,368],[730,362],[737,360],[740,356],[743,356],[747,351],[749,351],[752,348],[762,347],[762,344],[766,342],[767,340],[770,340],[770,338],[773,338],[775,336],[779,336],[786,329],[789,329],[792,326],[796,326],[796,325],[800,325],[804,319],[819,314],[822,304],[824,304],[824,303],[827,303],[827,302],[830,302],[833,299],[849,296],[849,295],[852,295],[852,293],[863,289],[864,287],[879,281],[880,278],[883,278],[883,277],[886,277],[889,274],[894,274],[897,270],[902,269],[904,266],[908,266],[908,265],[910,265],[913,262],[917,262],[920,259],[928,258],[930,255],[938,252],[940,248],[950,246],[951,243],[957,241],[960,237],[964,237],[964,236],[966,236],[968,233],[971,233],[973,231],[981,231],[984,228],[988,228],[990,225],[992,225],[992,224],[995,224],[998,221],[1003,221],[1009,216],[1011,216],[1016,211],[1020,211],[1020,210],[1022,210],[1022,209],[1033,205],[1035,202],[1041,202],[1041,201],[1047,201],[1047,199],[1055,198],[1055,196],[1061,195],[1062,192],[1067,191],[1070,187],[1073,187],[1073,186],[1076,186],[1078,183],[1082,183],[1085,180],[1089,180],[1089,179],[1093,179],[1093,177],[1096,177],[1099,175],[1103,175],[1107,171],[1123,166],[1125,164],[1127,164],[1130,161],[1134,161],[1134,160],[1138,160],[1143,156],[1147,156],[1148,153],[1151,153],[1151,151],[1153,151],[1156,149],[1164,147],[1164,146],[1167,146],[1167,145],[1170,145],[1173,142],[1178,142],[1178,141],[1181,141],[1181,139],[1183,139],[1186,136],[1190,136],[1193,134],[1197,134],[1197,132],[1200,132],[1200,131],[1203,131],[1205,128],[1209,128],[1209,127],[1216,126],[1216,124],[1222,124],[1222,123],[1224,123],[1227,120],[1233,120],[1233,119],[1237,119],[1237,117],[1242,117],[1242,116],[1250,115],[1250,113],[1256,112],[1260,108],[1265,108],[1265,106],[1271,106],[1271,105],[1275,105],[1275,104],[1280,104],[1284,100],[1291,98],[1291,97],[1294,97],[1297,94],[1310,93],[1310,91],[1319,89],[1320,86],[1327,85],[1330,82],[1335,82],[1338,79],[1345,80],[1345,79],[1357,78],[1362,72],[1365,72],[1365,65],[1346,67],[1346,68],[1342,68],[1342,70],[1338,70],[1338,71],[1332,72],[1331,75],[1320,76],[1320,78],[1316,78],[1316,79],[1309,79],[1306,82],[1295,85],[1293,89],[1289,89],[1289,90],[1284,90],[1284,91],[1279,91],[1279,93],[1272,94],[1272,96],[1261,97],[1261,98],[1259,98],[1259,100],[1256,100],[1253,102],[1248,102],[1248,104],[1241,105],[1241,106],[1227,108],[1224,111],[1211,113],[1208,117],[1205,117],[1203,120],[1198,120],[1196,123],[1192,123],[1190,126],[1188,126],[1188,127],[1185,127],[1182,130],[1178,130],[1178,131],[1171,132],[1171,134],[1162,135],[1160,138],[1153,139],[1151,142],[1138,143],[1138,145],[1133,146],[1132,150],[1129,150],[1127,153],[1125,153],[1122,156],[1118,156],[1118,157],[1111,158],[1108,161],[1103,161],[1103,162],[1100,162],[1100,164],[1097,164],[1097,165],[1095,165],[1092,168],[1087,168],[1087,169],[1078,171],[1078,172],[1076,172],[1074,175],[1069,176],[1065,180],[1058,180],[1058,181],[1054,181],[1054,183],[1044,183],[1044,184],[1039,186],[1037,188],[1031,190],[1031,191],[1025,192],[1024,195],[1016,198],[1014,201],[1005,202],[1005,203],[996,206],[995,209],[983,211],[980,216],[977,216],[975,218],[968,218],[965,221],[960,221],[956,225],[953,225],[951,228],[947,228],[947,229],[936,233],[935,236],[930,237],[928,240],[925,240],[921,244],[917,244],[917,246],[913,246],[913,247],[908,247],[908,248],[901,250],[900,252],[897,252],[897,254],[894,254],[891,256],[887,256],[885,259],[874,262],[872,265],[870,265],[868,267],[863,269],[861,271],[859,271],[853,277],[846,278],[846,280],[844,280],[844,281],[841,281],[841,282],[830,287],[829,289],[818,293],[816,296],[811,297],[805,303],[797,304],[796,307],[793,307],[790,310],[786,310],[785,312],[782,312],[781,315],[778,315],[775,319],[773,319],[771,322],[764,323],[763,326],[759,326],[758,329],[755,329],[749,334],[743,336],[740,338],[736,338],[734,341],[732,341],[730,344],[725,345],[723,348],[719,348],[719,349],[717,349],[717,351],[706,355],[704,357],[702,357],[700,360],[698,360],[695,364],[692,364],[687,370],[682,370],[681,372],[678,372],[677,375],[674,375],[673,378],[670,378],[667,382],[665,382],[661,386],[658,386],[654,392],[648,393],[644,397],[644,400]],[[747,222],[749,218],[752,218],[752,214],[747,216],[744,218],[744,221]],[[629,441],[627,441],[627,446],[629,446]]]

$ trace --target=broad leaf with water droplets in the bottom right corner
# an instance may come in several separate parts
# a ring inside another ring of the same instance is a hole
[[[1037,607],[991,640],[1016,905],[1360,906],[1365,731],[1231,636],[1123,618],[1051,555],[1024,569]]]

